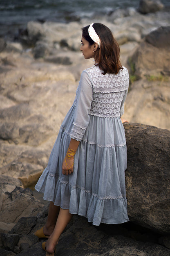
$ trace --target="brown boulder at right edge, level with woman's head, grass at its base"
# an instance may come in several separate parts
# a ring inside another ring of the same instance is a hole
[[[154,41],[155,40],[155,41]],[[170,59],[170,27],[159,27],[148,34],[135,53],[131,61],[135,65],[135,75],[160,76],[170,75],[168,66]]]

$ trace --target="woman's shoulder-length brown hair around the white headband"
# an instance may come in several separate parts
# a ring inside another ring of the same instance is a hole
[[[106,73],[117,74],[123,69],[120,62],[120,48],[116,39],[113,37],[111,30],[101,23],[93,24],[94,30],[101,40],[101,47],[95,51],[96,66]],[[89,45],[94,44],[88,33],[89,25],[82,28],[82,36],[89,42]]]

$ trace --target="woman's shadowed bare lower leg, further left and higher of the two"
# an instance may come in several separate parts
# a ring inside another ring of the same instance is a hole
[[[47,222],[43,228],[43,232],[45,235],[51,235],[58,218],[58,214],[60,211],[60,206],[55,206],[53,202],[49,203],[49,212],[47,217]]]

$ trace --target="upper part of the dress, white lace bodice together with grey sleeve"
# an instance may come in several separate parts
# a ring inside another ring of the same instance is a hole
[[[76,91],[75,118],[71,137],[81,140],[89,123],[89,116],[120,117],[128,93],[129,74],[123,67],[118,74],[102,74],[98,66],[82,72]]]

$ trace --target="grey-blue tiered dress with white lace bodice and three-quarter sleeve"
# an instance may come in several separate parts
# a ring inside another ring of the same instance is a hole
[[[35,189],[72,214],[94,225],[127,222],[125,197],[126,140],[120,116],[129,85],[128,70],[102,74],[86,69]],[[74,172],[62,174],[70,139],[80,141]]]

